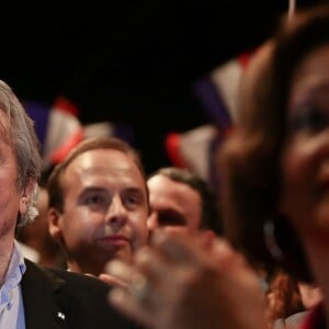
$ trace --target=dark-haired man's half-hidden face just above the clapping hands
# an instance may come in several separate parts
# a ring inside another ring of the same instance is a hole
[[[222,235],[222,217],[215,194],[201,178],[188,169],[160,168],[147,179],[150,232],[158,227],[186,229],[195,232],[207,229]]]

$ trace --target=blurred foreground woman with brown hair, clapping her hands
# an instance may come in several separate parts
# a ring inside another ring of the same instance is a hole
[[[328,5],[284,16],[266,49],[218,161],[225,235],[249,265],[220,240],[168,231],[133,265],[110,263],[129,280],[112,291],[112,305],[149,328],[269,328],[258,264],[317,284],[324,298],[299,328],[328,328]]]

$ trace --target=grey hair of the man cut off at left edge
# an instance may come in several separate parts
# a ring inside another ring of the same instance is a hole
[[[12,89],[0,80],[0,111],[8,117],[9,128],[5,129],[0,123],[1,137],[8,143],[15,156],[18,164],[18,189],[23,191],[31,180],[34,181],[34,189],[31,202],[27,205],[26,214],[19,215],[18,226],[25,226],[37,215],[35,202],[37,198],[37,181],[41,175],[42,158],[39,143],[34,129],[32,118],[26,114],[23,105]]]

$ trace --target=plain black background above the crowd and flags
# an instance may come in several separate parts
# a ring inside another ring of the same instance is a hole
[[[298,1],[307,7],[319,1]],[[0,78],[21,99],[72,100],[82,123],[132,126],[147,171],[168,132],[211,121],[193,83],[268,38],[288,1],[10,1]]]

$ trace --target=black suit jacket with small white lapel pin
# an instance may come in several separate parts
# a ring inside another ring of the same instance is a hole
[[[110,286],[82,274],[42,269],[25,260],[22,295],[26,329],[131,329],[106,300]]]

